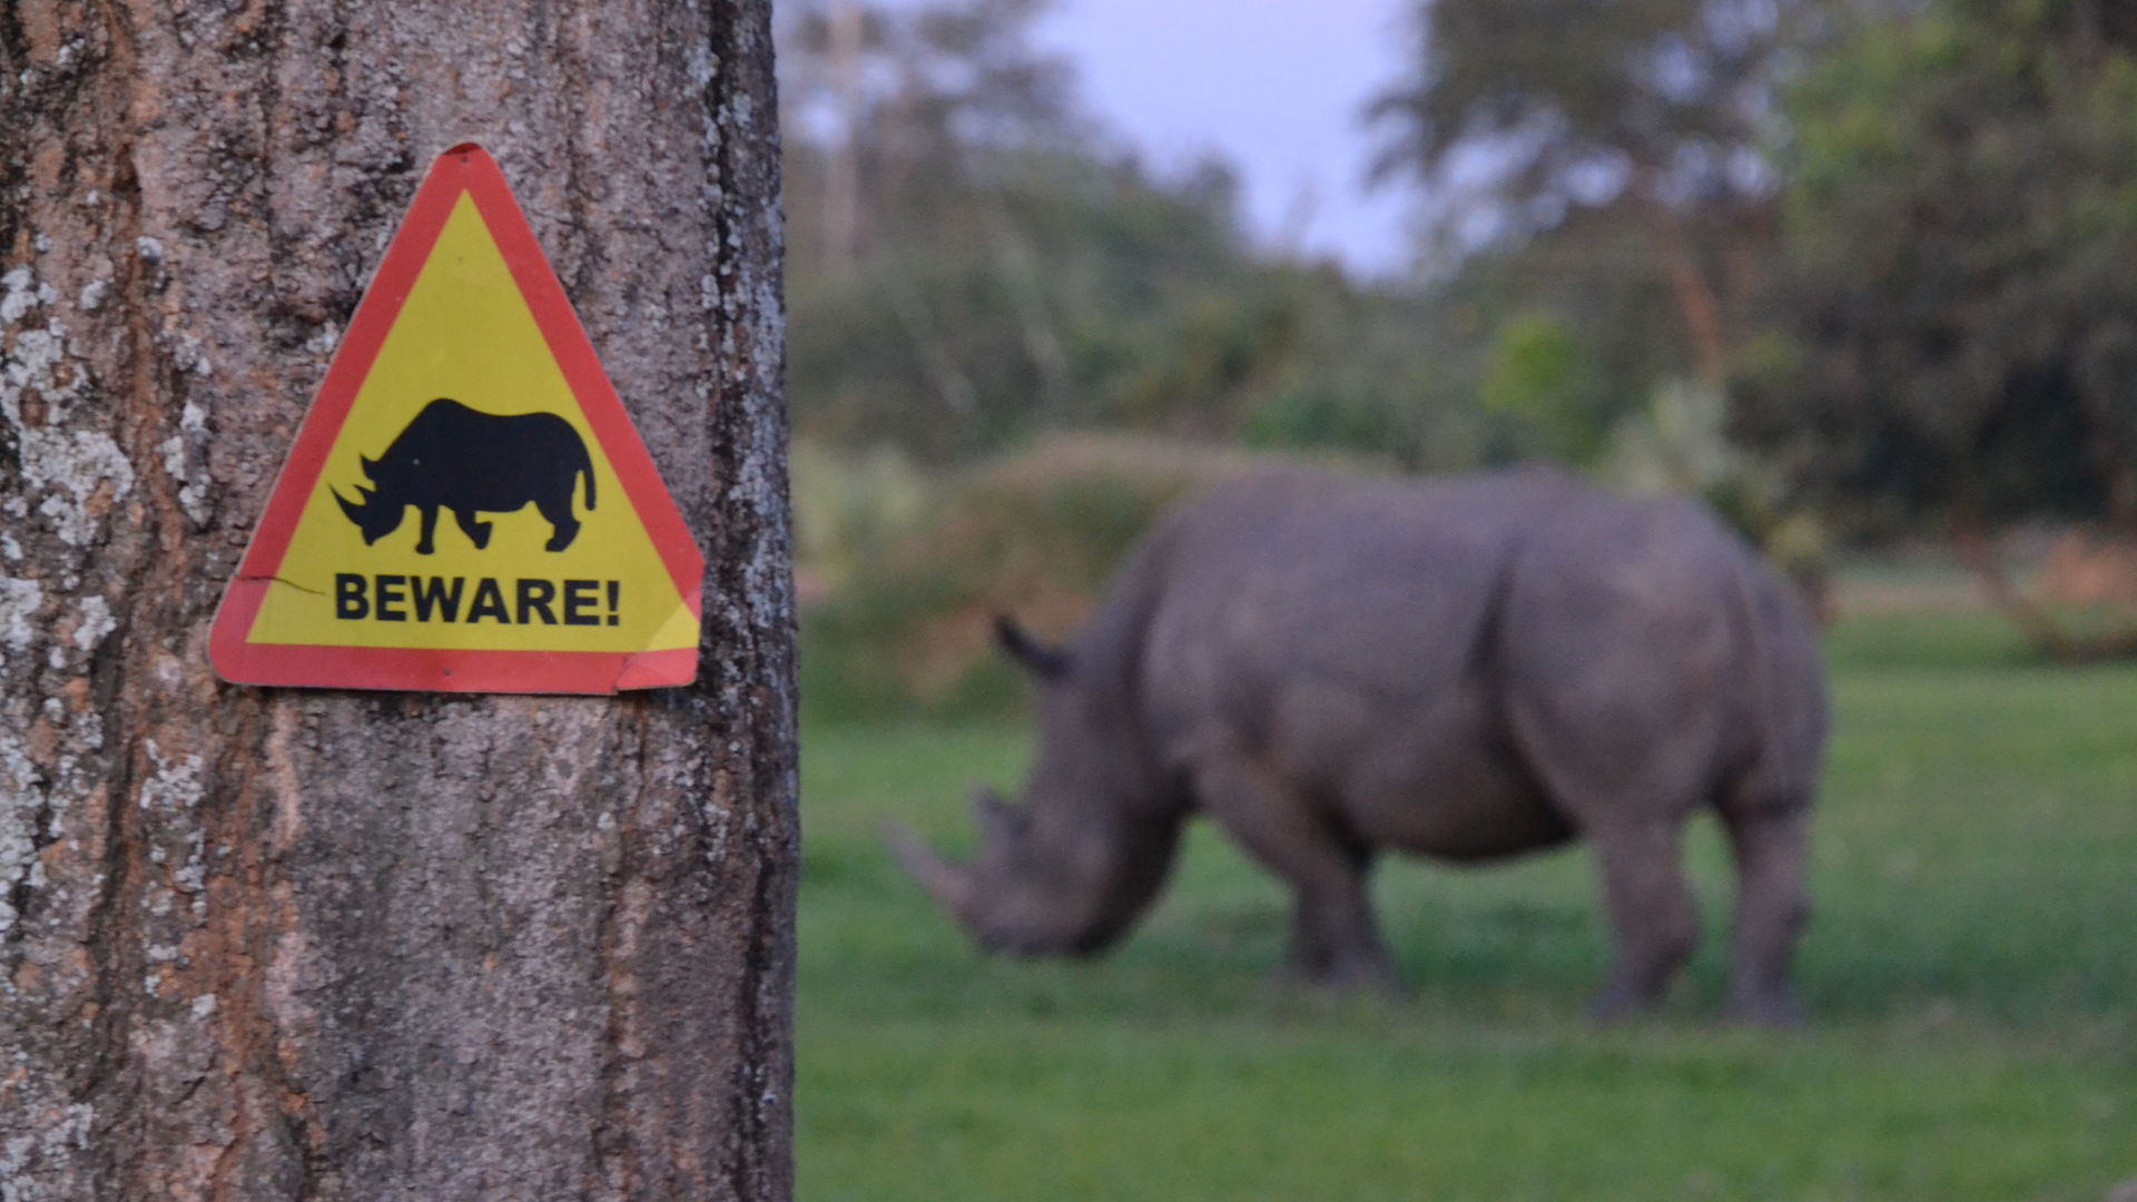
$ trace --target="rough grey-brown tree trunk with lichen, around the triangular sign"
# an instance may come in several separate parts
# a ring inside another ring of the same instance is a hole
[[[789,1193],[776,111],[765,0],[0,2],[0,1196]],[[703,545],[699,684],[220,684],[462,139]]]

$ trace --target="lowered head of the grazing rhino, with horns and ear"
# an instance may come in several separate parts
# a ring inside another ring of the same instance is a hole
[[[989,952],[1088,956],[1126,935],[1156,898],[1184,806],[1139,749],[1101,672],[1039,644],[1009,618],[1002,650],[1039,682],[1041,746],[1019,804],[974,789],[979,851],[957,864],[900,826],[891,853]]]

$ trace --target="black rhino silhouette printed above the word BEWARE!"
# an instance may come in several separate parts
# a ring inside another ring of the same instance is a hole
[[[511,513],[532,503],[551,526],[543,545],[560,552],[579,535],[571,509],[579,477],[586,477],[586,507],[594,509],[594,460],[571,421],[556,413],[483,413],[440,396],[383,456],[361,462],[370,488],[359,486],[357,500],[340,490],[333,498],[363,530],[363,545],[397,530],[415,505],[423,522],[417,554],[436,550],[438,509],[451,509],[481,550],[489,545],[489,522],[477,513]]]

